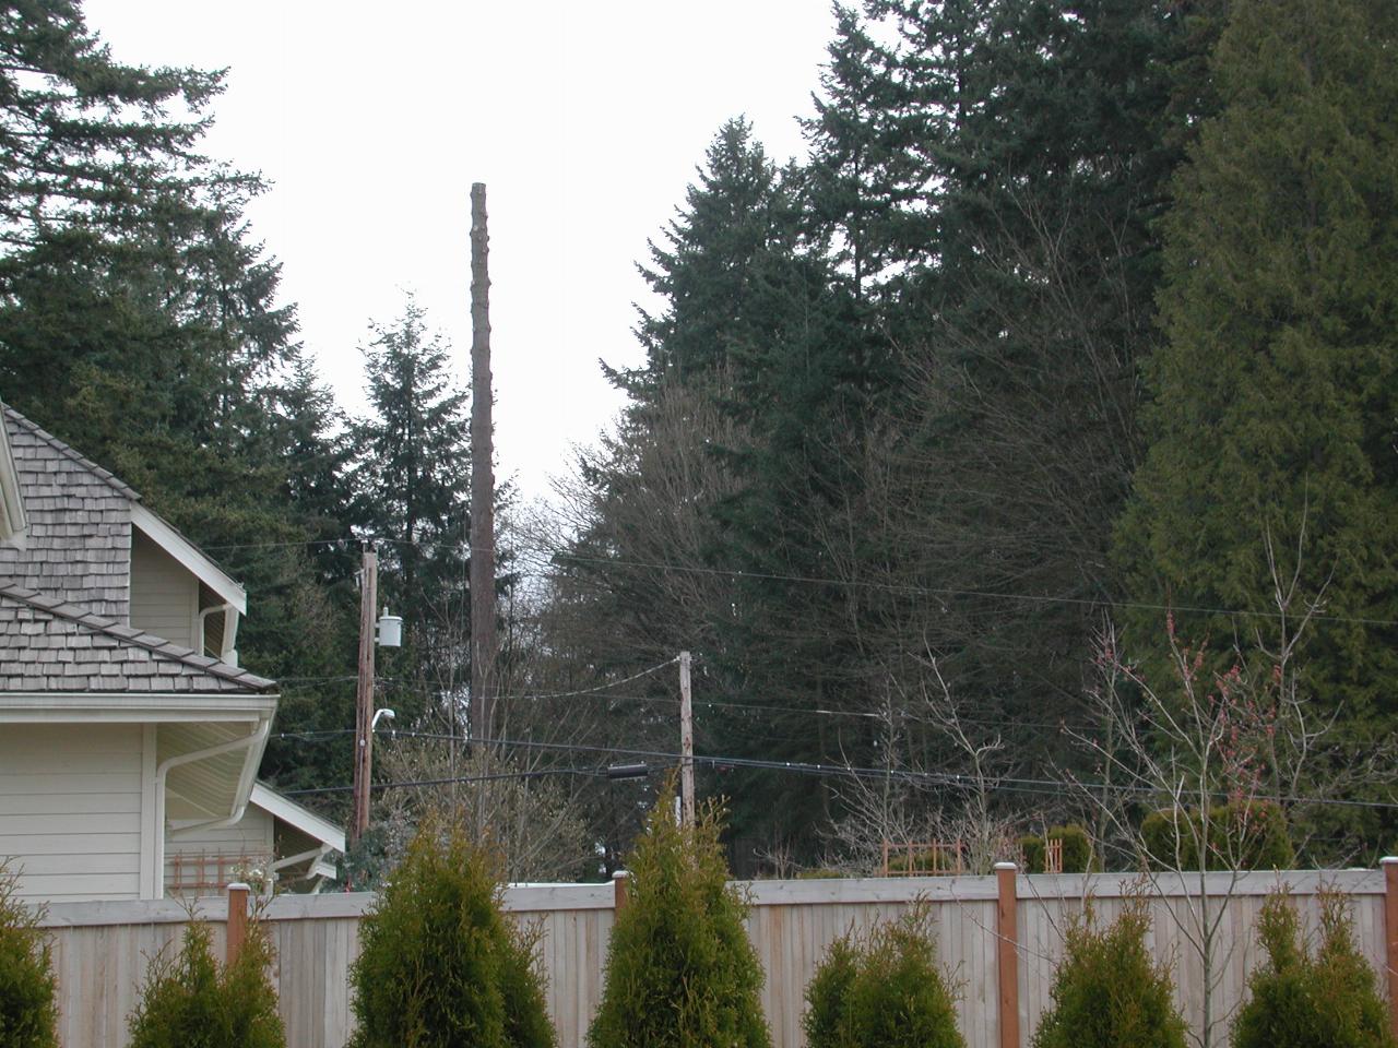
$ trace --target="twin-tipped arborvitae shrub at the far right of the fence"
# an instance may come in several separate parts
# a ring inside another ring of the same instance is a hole
[[[1394,1048],[1374,973],[1355,949],[1345,898],[1321,896],[1321,942],[1310,956],[1290,898],[1262,904],[1265,954],[1248,977],[1248,1002],[1233,1020],[1233,1048]]]

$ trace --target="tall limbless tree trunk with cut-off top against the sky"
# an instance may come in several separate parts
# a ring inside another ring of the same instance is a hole
[[[495,440],[491,408],[491,238],[485,183],[471,186],[471,736],[488,739],[495,704]]]

